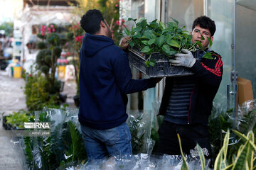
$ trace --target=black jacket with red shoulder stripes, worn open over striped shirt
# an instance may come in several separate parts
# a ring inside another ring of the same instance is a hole
[[[201,61],[196,60],[196,63],[191,67],[191,71],[196,75],[196,83],[188,108],[188,124],[208,124],[208,118],[213,108],[213,99],[217,94],[223,75],[223,62],[220,55],[211,52],[213,60],[206,58]],[[166,77],[159,115],[166,113],[173,79],[175,77]]]

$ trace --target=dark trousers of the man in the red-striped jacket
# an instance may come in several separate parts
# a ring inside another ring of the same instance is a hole
[[[159,128],[159,154],[181,154],[177,133],[181,137],[181,147],[184,154],[191,154],[191,150],[193,152],[196,143],[198,143],[204,151],[204,156],[210,159],[211,149],[207,125],[177,125],[167,121],[164,121]]]

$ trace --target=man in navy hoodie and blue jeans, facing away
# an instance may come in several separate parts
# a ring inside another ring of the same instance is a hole
[[[126,124],[127,95],[156,86],[160,79],[132,79],[127,54],[114,45],[102,13],[82,16],[79,122],[88,159],[132,154]]]

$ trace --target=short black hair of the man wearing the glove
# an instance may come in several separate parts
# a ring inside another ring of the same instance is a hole
[[[198,18],[193,21],[193,26],[192,30],[196,27],[200,26],[201,28],[205,28],[210,30],[210,36],[213,36],[216,30],[216,26],[214,21],[212,21],[209,17],[207,16],[199,16]]]

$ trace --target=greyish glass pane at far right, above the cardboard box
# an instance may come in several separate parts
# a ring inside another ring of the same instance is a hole
[[[252,81],[253,96],[256,96],[256,11],[237,4],[236,14],[236,68],[238,77]]]

